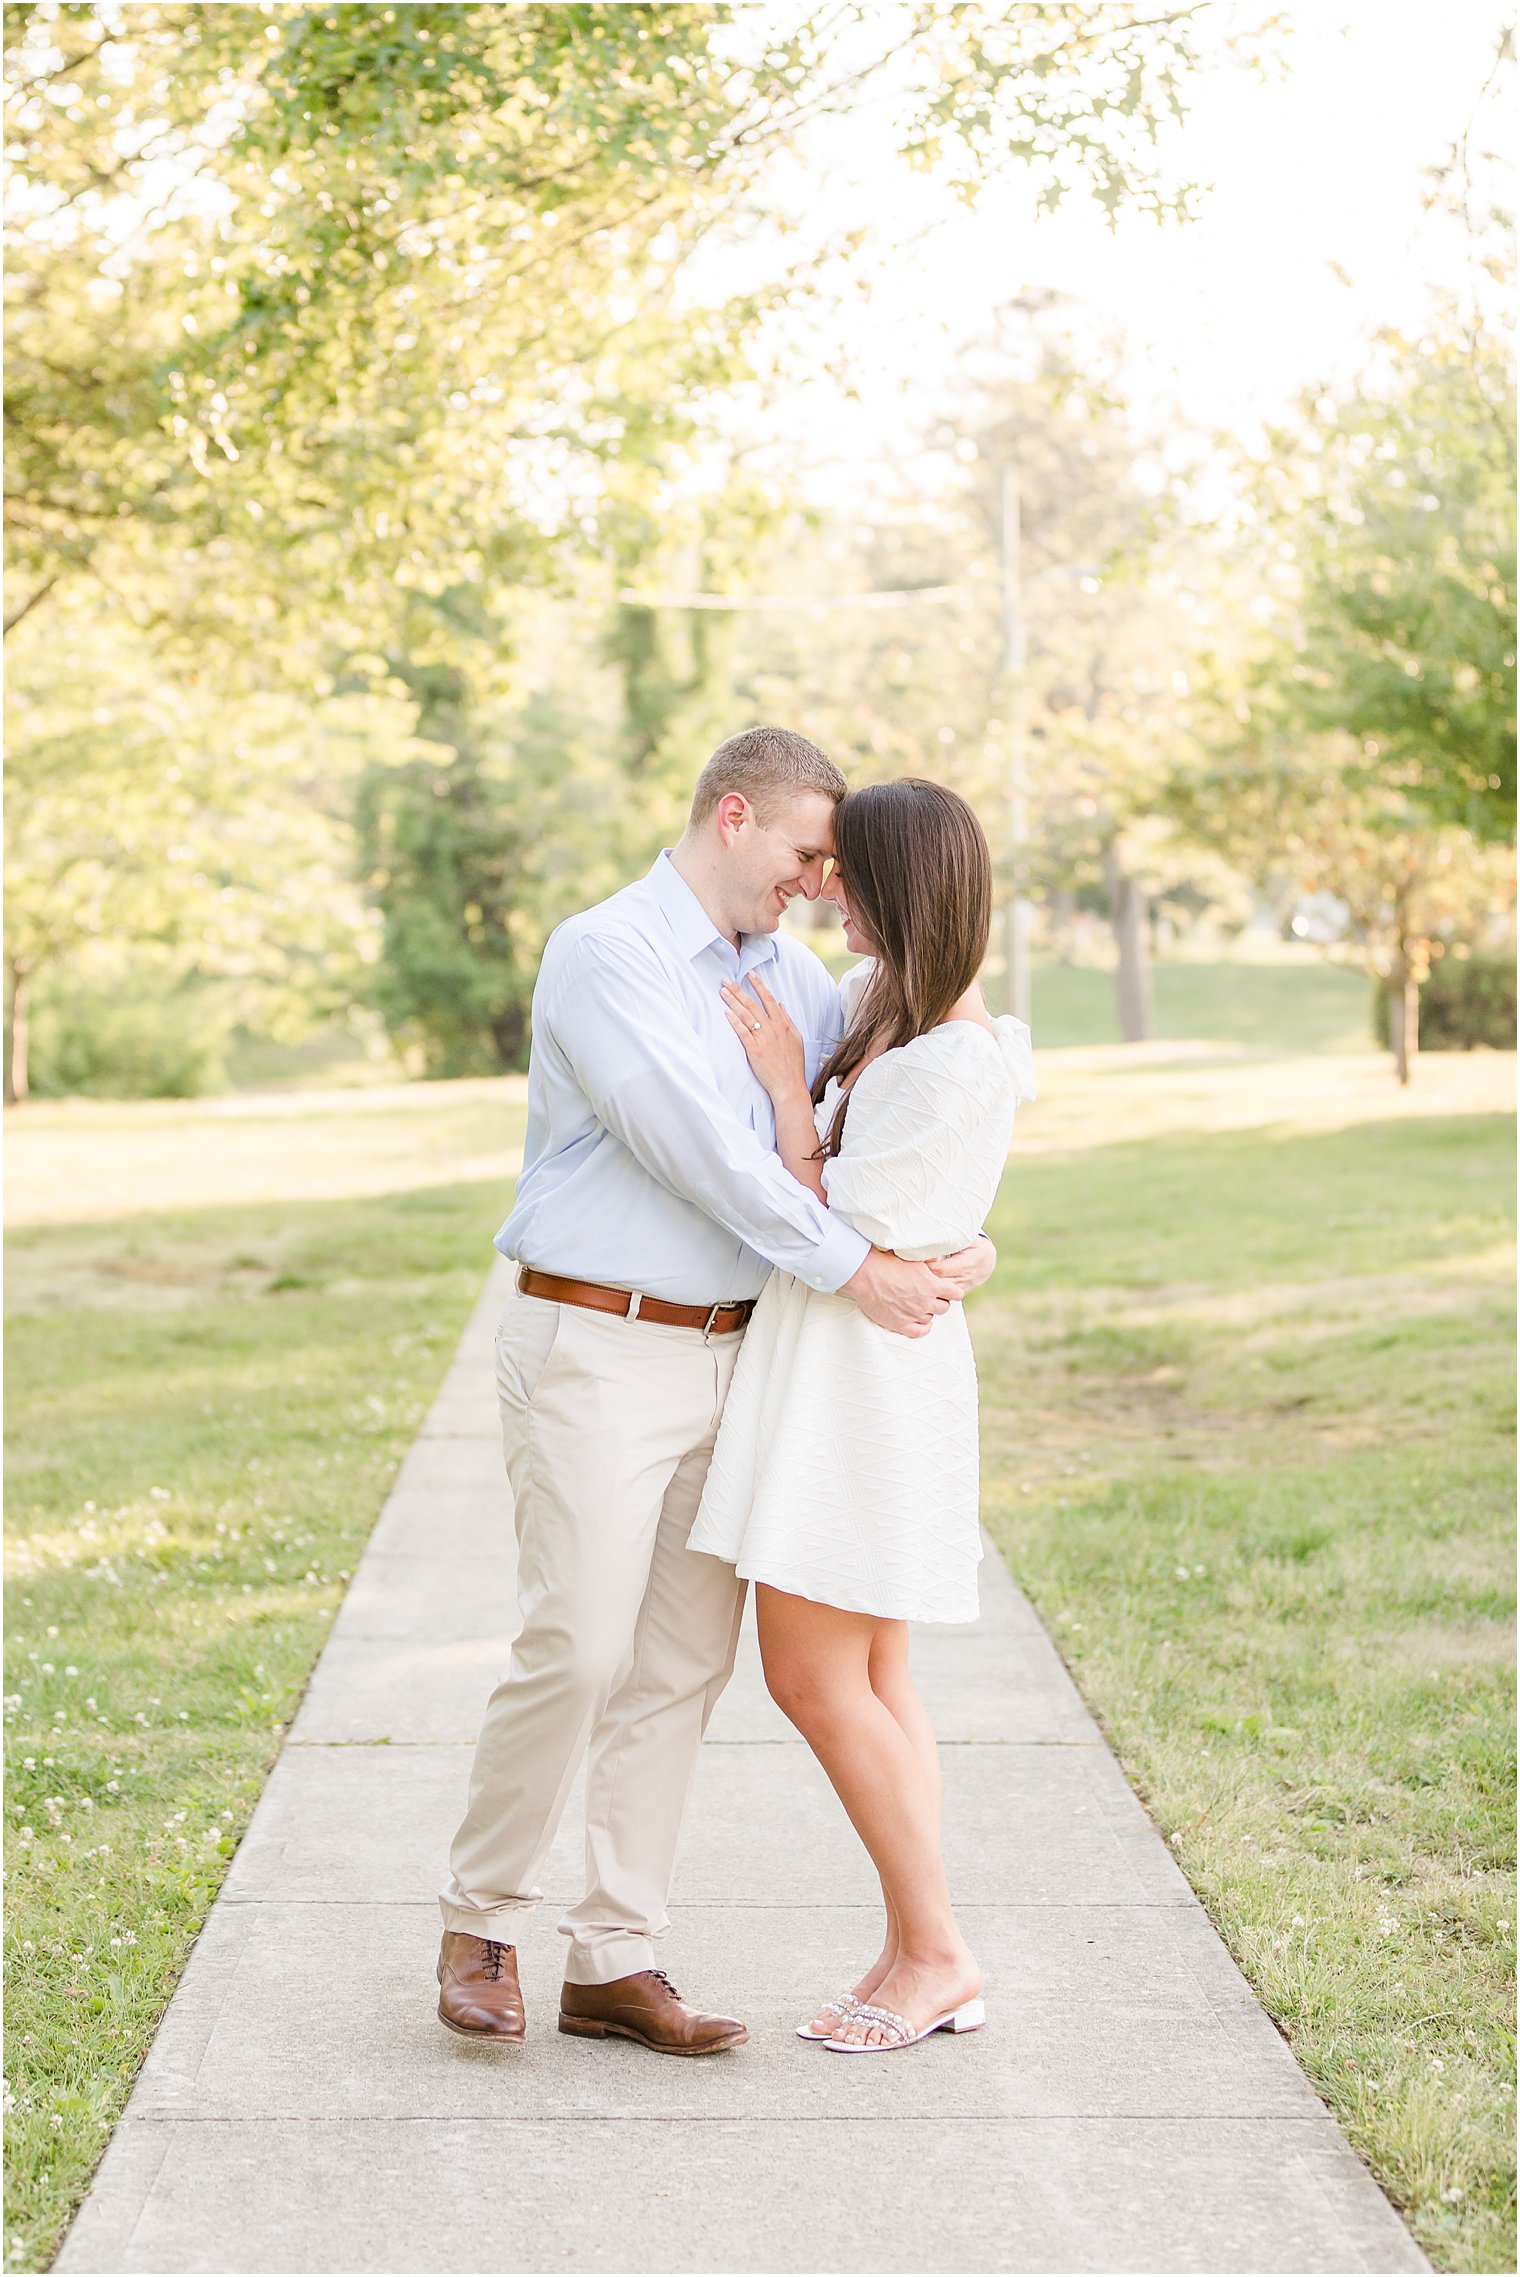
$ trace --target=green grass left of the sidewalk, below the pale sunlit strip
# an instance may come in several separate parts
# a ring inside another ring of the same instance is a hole
[[[498,1202],[9,1236],[9,2268],[46,2266],[84,2193]]]

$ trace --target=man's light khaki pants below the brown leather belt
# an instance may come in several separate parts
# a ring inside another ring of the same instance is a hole
[[[705,1339],[512,1291],[496,1391],[523,1628],[476,1744],[444,1926],[517,1940],[589,1746],[571,1983],[655,1965],[696,1746],[744,1585],[689,1551],[744,1330]]]

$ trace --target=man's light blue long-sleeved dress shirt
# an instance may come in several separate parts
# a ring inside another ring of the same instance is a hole
[[[776,1154],[776,1120],[719,984],[760,972],[801,1029],[808,1082],[840,990],[785,934],[719,934],[660,854],[555,927],[532,990],[528,1141],[503,1257],[674,1305],[760,1296],[771,1266],[840,1289],[869,1255]]]

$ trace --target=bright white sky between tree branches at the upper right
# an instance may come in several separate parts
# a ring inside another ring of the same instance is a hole
[[[1249,433],[1299,387],[1354,369],[1374,328],[1418,323],[1431,285],[1459,280],[1459,232],[1422,212],[1424,168],[1468,128],[1511,16],[1500,0],[1297,0],[1283,73],[1220,66],[1192,87],[1174,168],[1213,187],[1188,225],[1126,216],[1110,235],[1079,200],[1038,216],[1019,173],[965,212],[897,162],[881,114],[831,121],[806,157],[808,200],[831,225],[876,221],[856,269],[869,305],[833,323],[862,401],[799,383],[776,417],[785,455],[835,499],[869,462],[901,460],[965,346],[1031,287],[1069,296],[1081,330],[1124,337],[1142,417],[1176,408],[1190,426]],[[1490,100],[1477,139],[1495,146],[1506,128]],[[801,351],[799,369],[810,360]]]

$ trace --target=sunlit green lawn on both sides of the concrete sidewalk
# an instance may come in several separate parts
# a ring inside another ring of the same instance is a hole
[[[1509,2254],[1511,1075],[1051,1052],[974,1314],[997,1539],[1308,2074],[1468,2270]],[[125,2102],[521,1118],[521,1079],[9,1118],[11,2268]]]

